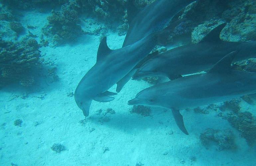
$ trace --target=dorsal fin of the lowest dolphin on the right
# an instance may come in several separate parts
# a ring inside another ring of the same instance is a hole
[[[233,51],[225,55],[208,71],[208,73],[230,74],[231,63],[237,53],[238,51]]]

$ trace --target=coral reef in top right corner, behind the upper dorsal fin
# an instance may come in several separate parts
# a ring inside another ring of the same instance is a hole
[[[217,24],[227,22],[221,38],[227,41],[256,40],[256,3],[253,0],[196,1],[182,18],[192,22],[192,42],[200,41]]]

